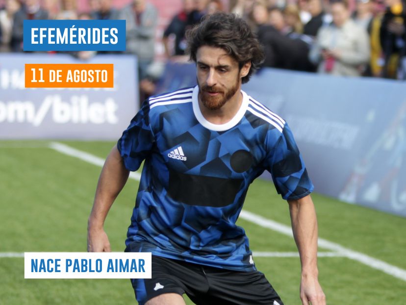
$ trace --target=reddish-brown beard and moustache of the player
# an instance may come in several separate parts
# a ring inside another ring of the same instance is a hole
[[[198,81],[199,83],[199,81]],[[209,110],[219,110],[226,104],[230,98],[237,92],[238,90],[238,85],[239,85],[239,78],[236,79],[236,82],[233,84],[233,86],[226,91],[222,91],[220,88],[216,86],[207,86],[207,85],[200,85],[200,97],[201,101],[204,105]],[[216,96],[211,96],[210,93],[219,93]]]

